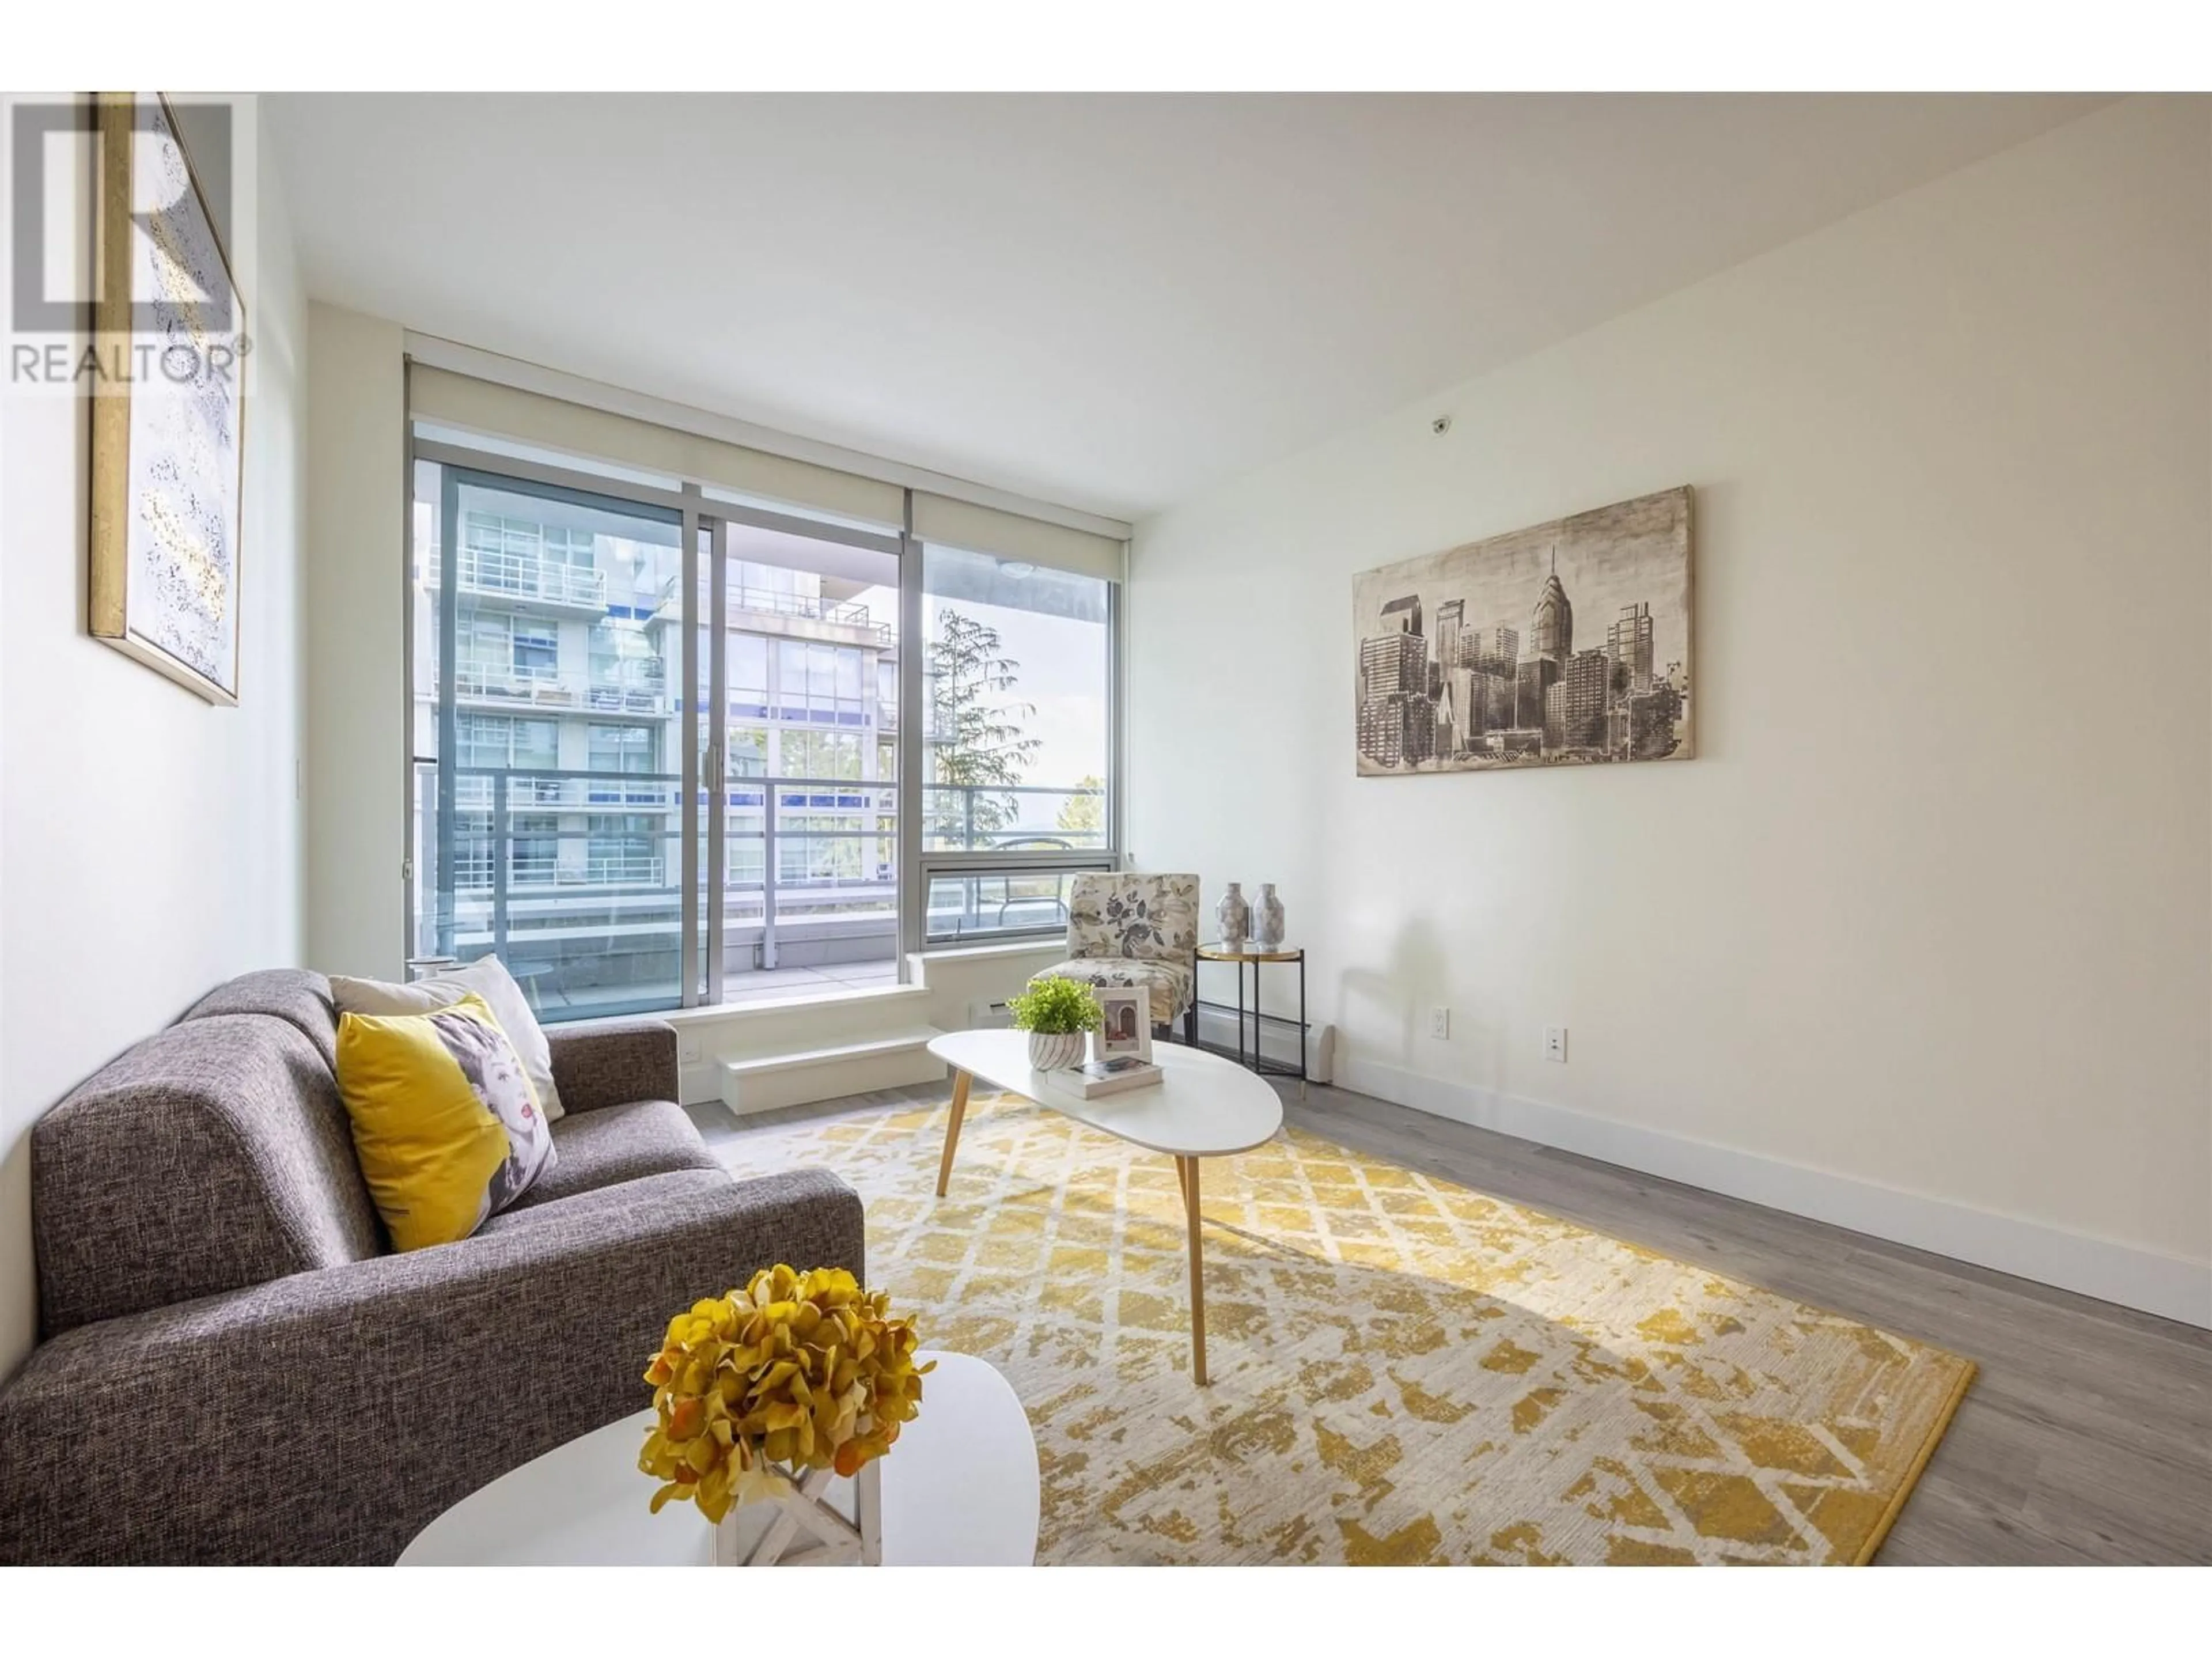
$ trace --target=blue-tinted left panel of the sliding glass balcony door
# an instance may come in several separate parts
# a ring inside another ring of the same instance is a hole
[[[672,507],[416,467],[418,958],[553,1018],[688,1000],[681,577]]]

